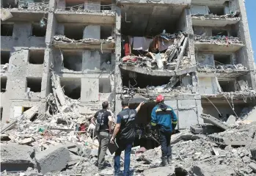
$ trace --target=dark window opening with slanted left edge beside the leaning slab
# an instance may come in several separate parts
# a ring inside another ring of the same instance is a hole
[[[60,84],[67,97],[76,100],[81,98],[81,78],[61,78]]]

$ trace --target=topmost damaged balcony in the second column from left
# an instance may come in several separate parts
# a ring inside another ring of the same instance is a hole
[[[59,23],[115,23],[111,1],[59,0],[54,14]]]

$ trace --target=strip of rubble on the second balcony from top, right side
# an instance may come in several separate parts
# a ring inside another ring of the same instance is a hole
[[[213,43],[213,44],[224,44],[230,45],[232,44],[242,44],[242,41],[238,37],[227,37],[222,35],[216,36],[206,36],[206,35],[196,35],[194,34],[194,41],[200,43]]]

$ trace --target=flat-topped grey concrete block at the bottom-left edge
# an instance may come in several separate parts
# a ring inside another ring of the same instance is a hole
[[[34,148],[19,144],[1,144],[1,172],[34,168]]]

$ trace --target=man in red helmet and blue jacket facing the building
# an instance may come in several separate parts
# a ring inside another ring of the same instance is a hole
[[[158,95],[156,98],[156,106],[151,113],[152,129],[158,130],[159,141],[161,144],[161,166],[171,164],[172,148],[171,135],[177,125],[177,116],[170,106],[164,104],[164,96]]]

